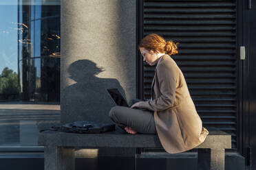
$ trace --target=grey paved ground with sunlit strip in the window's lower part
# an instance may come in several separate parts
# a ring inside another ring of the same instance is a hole
[[[37,145],[39,130],[61,121],[58,104],[0,103],[0,146]]]

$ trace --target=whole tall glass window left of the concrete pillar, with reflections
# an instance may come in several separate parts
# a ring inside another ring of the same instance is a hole
[[[60,1],[0,1],[0,146],[60,123]]]

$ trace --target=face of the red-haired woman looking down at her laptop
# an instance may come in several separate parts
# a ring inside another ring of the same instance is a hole
[[[140,53],[143,56],[143,61],[147,62],[147,64],[153,66],[158,62],[159,58],[156,51],[153,51],[153,50],[148,51],[144,47],[141,47]]]

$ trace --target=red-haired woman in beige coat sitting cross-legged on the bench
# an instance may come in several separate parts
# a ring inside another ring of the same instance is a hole
[[[129,134],[157,133],[162,147],[170,154],[200,145],[209,132],[202,127],[184,75],[171,58],[178,53],[177,45],[149,34],[142,39],[139,49],[145,62],[156,64],[151,100],[139,101],[131,108],[115,106],[109,116]]]

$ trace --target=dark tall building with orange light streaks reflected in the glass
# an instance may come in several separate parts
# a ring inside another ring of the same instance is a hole
[[[60,5],[19,5],[18,75],[22,100],[60,100],[60,13]]]

